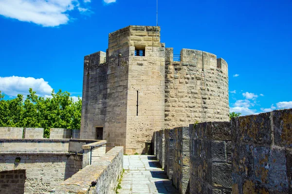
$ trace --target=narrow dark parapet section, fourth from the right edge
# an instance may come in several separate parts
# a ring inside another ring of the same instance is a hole
[[[174,161],[174,129],[165,129],[165,146],[164,146],[164,172],[167,178],[172,180],[173,161]]]

